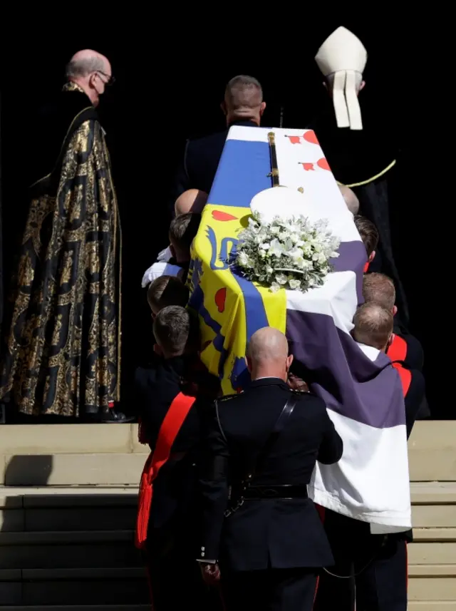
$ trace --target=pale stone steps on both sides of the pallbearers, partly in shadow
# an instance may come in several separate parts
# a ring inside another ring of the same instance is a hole
[[[456,611],[456,422],[410,438],[411,611]],[[149,609],[135,425],[0,426],[0,611]]]

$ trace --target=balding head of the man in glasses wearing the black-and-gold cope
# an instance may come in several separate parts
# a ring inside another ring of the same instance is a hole
[[[66,78],[77,83],[97,106],[105,86],[112,81],[111,65],[98,51],[84,49],[75,53],[66,66]]]

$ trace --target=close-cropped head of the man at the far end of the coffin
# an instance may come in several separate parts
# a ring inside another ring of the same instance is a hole
[[[252,120],[259,125],[264,108],[263,90],[256,78],[241,74],[229,81],[222,104],[227,123]]]

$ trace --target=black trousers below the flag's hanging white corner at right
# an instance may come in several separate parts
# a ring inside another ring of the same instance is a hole
[[[315,611],[406,611],[407,543],[398,535],[371,535],[369,525],[325,512],[336,564],[320,575]],[[352,577],[350,577],[352,576]]]

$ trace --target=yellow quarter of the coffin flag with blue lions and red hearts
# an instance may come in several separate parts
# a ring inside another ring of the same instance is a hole
[[[207,204],[192,245],[190,307],[199,314],[201,359],[224,394],[242,387],[249,337],[266,325],[285,332],[285,291],[272,293],[233,273],[230,256],[250,215],[247,207]]]

